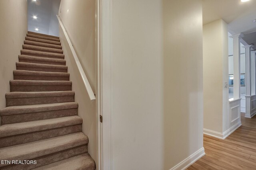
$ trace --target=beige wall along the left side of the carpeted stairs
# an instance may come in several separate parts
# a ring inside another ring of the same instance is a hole
[[[28,31],[27,1],[0,1],[0,109],[6,106],[5,93],[16,69],[18,55]]]

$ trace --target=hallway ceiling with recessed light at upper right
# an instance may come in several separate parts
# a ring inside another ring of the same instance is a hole
[[[232,35],[244,33],[244,41],[256,46],[256,0],[203,0],[203,24],[220,18],[228,24]]]

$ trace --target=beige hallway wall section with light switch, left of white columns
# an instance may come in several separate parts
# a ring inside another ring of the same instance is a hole
[[[222,133],[228,114],[228,31],[222,19],[203,26],[203,47],[204,129]]]

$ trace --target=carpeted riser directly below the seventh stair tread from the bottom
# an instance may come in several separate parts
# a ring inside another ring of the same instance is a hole
[[[29,75],[13,75],[14,80],[47,80],[47,81],[69,81],[69,76],[29,76]],[[58,90],[60,91],[60,90]]]

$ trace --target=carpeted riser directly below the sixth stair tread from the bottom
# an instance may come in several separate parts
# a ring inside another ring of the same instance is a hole
[[[71,91],[72,85],[48,85],[48,86],[30,86],[30,85],[11,85],[11,92],[52,92],[52,91]]]

